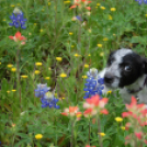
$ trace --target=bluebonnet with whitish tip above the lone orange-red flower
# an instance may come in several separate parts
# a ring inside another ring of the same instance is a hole
[[[23,18],[23,12],[15,8],[10,19],[12,20],[12,23],[9,23],[10,26],[15,26],[16,29],[21,26],[21,29],[26,29],[25,21],[26,19]]]

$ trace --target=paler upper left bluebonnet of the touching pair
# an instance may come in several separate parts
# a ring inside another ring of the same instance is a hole
[[[43,98],[46,92],[50,90],[49,87],[47,87],[47,83],[45,84],[37,84],[37,89],[35,89],[35,97]]]

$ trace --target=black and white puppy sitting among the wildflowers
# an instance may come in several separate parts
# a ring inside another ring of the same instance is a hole
[[[111,53],[100,76],[104,77],[104,93],[118,88],[125,103],[129,103],[134,95],[138,98],[138,103],[147,104],[147,59],[132,49]]]

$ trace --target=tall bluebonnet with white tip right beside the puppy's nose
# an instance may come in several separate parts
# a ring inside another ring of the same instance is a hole
[[[87,83],[84,83],[83,91],[86,91],[86,93],[83,99],[91,98],[95,94],[102,95],[104,80],[98,75],[98,70],[92,68],[87,72],[87,76],[88,78],[86,79]]]

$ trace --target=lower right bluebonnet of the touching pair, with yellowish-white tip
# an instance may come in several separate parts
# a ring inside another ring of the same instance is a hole
[[[59,105],[57,105],[57,102],[58,102],[59,100],[58,99],[56,99],[55,97],[54,97],[54,94],[52,93],[52,92],[46,92],[46,94],[43,97],[43,98],[41,98],[41,102],[42,102],[42,108],[47,108],[47,106],[49,106],[49,108],[55,108],[55,109],[59,109]]]

